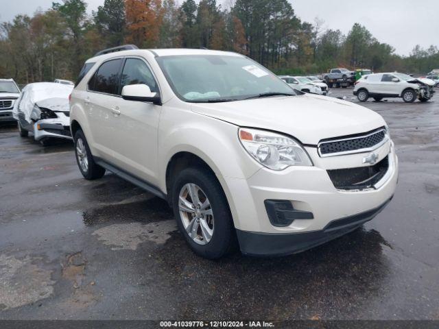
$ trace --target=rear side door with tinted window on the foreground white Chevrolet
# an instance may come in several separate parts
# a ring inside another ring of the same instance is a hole
[[[112,109],[118,99],[119,77],[123,58],[115,58],[102,63],[88,82],[86,102],[88,124],[99,156],[111,160],[115,156],[114,123]]]

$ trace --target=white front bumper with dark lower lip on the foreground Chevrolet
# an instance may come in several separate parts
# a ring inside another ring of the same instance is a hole
[[[228,179],[235,227],[244,254],[291,254],[335,239],[375,217],[394,195],[398,158],[391,143],[374,151],[379,159],[389,157],[387,173],[375,188],[360,191],[335,188],[327,170],[360,167],[367,153],[320,158],[316,148],[306,149],[314,167],[260,169],[247,180]],[[267,199],[288,200],[294,210],[309,212],[312,218],[274,226],[265,208]],[[337,222],[346,225],[333,224]]]

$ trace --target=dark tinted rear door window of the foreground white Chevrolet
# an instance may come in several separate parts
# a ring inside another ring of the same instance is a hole
[[[119,71],[122,59],[109,60],[102,64],[88,82],[88,88],[99,93],[117,95],[119,87]]]

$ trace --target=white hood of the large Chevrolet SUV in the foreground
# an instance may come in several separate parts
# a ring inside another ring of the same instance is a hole
[[[240,127],[283,132],[303,144],[369,132],[385,125],[381,115],[348,101],[318,95],[193,103],[193,112]]]

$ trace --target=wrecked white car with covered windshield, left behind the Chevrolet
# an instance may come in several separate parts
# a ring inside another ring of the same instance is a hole
[[[71,139],[69,95],[73,86],[37,82],[23,88],[12,115],[19,121],[20,136],[34,135],[35,141],[48,145],[52,138]]]

